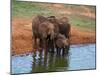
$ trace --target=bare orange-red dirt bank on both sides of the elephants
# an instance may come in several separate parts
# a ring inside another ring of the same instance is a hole
[[[95,43],[95,32],[82,31],[71,27],[71,44]],[[12,55],[32,52],[31,19],[13,18],[12,20]]]

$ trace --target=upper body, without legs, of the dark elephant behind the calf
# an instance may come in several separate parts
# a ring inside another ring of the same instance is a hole
[[[52,22],[57,28],[58,33],[61,33],[69,39],[70,37],[70,24],[67,17],[56,18],[55,16],[48,17],[48,20]]]

